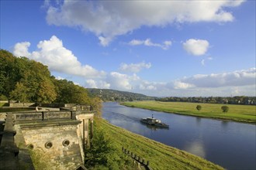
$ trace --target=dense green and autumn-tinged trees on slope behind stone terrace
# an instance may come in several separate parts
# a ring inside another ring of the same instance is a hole
[[[92,106],[99,104],[99,98],[92,97],[84,87],[72,81],[57,80],[50,75],[47,66],[25,56],[16,57],[1,49],[0,68],[0,100]]]

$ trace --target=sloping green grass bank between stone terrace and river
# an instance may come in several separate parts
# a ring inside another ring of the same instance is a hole
[[[171,148],[157,141],[144,138],[138,134],[133,134],[123,128],[118,128],[107,121],[99,119],[96,121],[95,128],[102,128],[106,131],[108,138],[120,151],[121,148],[127,148],[134,154],[150,161],[150,167],[157,169],[223,169],[219,165],[214,165],[205,159],[199,158],[188,152]]]

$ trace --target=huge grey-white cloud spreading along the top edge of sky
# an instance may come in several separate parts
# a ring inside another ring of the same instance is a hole
[[[227,9],[239,6],[242,2],[47,0],[44,6],[47,6],[49,24],[93,32],[99,37],[102,46],[107,46],[115,36],[132,32],[141,26],[162,27],[174,22],[232,22],[234,16]]]

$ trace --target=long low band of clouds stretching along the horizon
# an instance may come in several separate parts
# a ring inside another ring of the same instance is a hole
[[[109,73],[104,80],[87,80],[86,87],[110,88],[150,96],[230,96],[255,94],[256,68],[230,73],[197,74],[168,83],[150,82],[137,74]]]

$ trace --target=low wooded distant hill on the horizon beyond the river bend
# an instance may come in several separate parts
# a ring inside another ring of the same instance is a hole
[[[140,93],[131,93],[127,91],[94,89],[88,88],[88,92],[94,97],[100,97],[103,101],[133,101],[133,100],[155,100],[157,97],[148,97]]]

